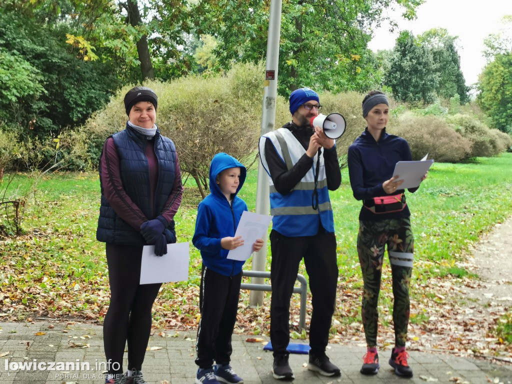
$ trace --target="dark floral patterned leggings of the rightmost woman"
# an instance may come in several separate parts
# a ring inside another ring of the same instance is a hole
[[[411,221],[409,218],[359,220],[357,253],[364,281],[361,317],[366,343],[370,348],[377,346],[377,302],[386,245],[393,278],[395,344],[404,347],[409,324],[409,284],[414,252]]]

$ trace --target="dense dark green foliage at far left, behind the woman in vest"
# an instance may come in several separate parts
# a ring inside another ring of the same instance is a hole
[[[108,101],[118,80],[100,61],[83,61],[66,43],[65,24],[41,26],[23,13],[0,11],[3,119],[20,134],[58,135],[82,124]]]

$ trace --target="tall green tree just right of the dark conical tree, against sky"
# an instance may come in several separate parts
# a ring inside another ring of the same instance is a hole
[[[439,79],[436,93],[449,99],[459,95],[461,104],[468,102],[469,87],[460,70],[460,57],[455,46],[457,37],[450,36],[444,28],[433,28],[418,36],[418,41],[430,49],[434,71]]]

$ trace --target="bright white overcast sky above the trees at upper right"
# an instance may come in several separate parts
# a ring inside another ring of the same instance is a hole
[[[445,28],[450,35],[458,36],[460,67],[466,84],[471,85],[477,82],[485,66],[483,40],[504,27],[500,21],[504,15],[512,15],[512,1],[426,0],[418,7],[417,15],[418,18],[410,22],[401,19],[400,12],[390,13],[398,20],[400,30],[412,31],[415,36],[431,28]],[[369,48],[375,52],[392,49],[397,37],[398,32],[390,33],[389,25],[382,25],[375,30]]]

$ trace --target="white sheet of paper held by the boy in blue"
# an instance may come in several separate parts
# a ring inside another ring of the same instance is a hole
[[[238,223],[237,232],[234,234],[235,237],[242,236],[244,245],[230,250],[227,258],[240,261],[249,259],[252,254],[252,245],[257,239],[264,239],[267,236],[271,221],[272,216],[244,211]]]

